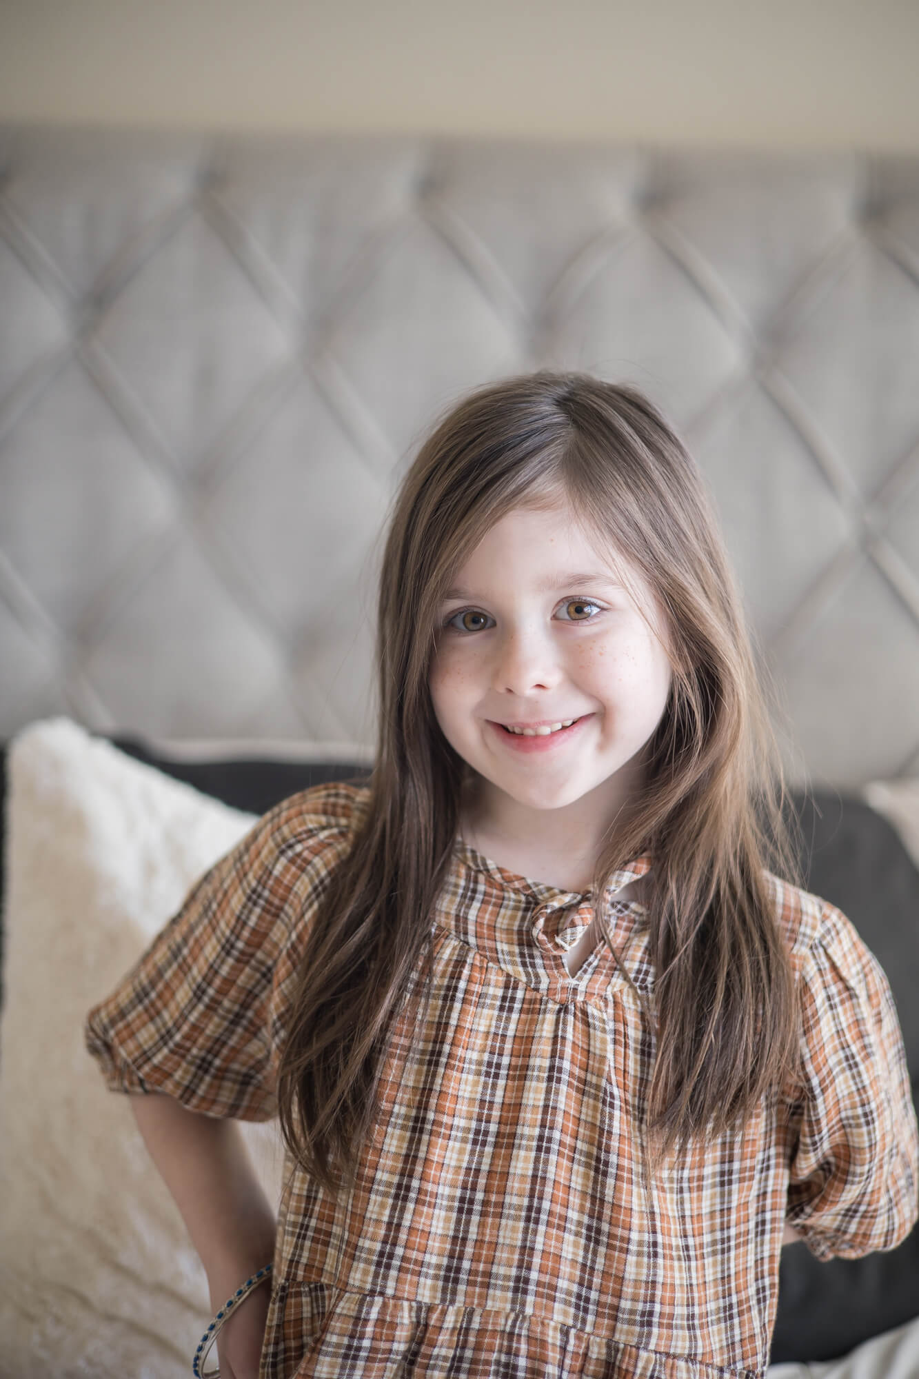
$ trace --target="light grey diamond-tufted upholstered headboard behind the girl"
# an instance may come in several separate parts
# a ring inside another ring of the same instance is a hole
[[[549,365],[700,459],[792,779],[919,771],[919,157],[0,141],[0,736],[371,743],[395,484]]]

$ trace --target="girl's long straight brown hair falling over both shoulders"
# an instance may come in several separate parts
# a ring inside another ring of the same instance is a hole
[[[701,473],[636,389],[540,371],[443,415],[407,470],[385,542],[378,738],[368,803],[319,906],[279,1066],[284,1139],[324,1187],[353,1183],[379,1113],[381,1059],[410,989],[431,993],[431,913],[460,825],[465,763],[428,688],[454,571],[511,509],[562,490],[669,623],[672,687],[647,789],[595,869],[650,852],[654,1158],[731,1129],[796,1071],[799,1011],[763,872],[799,883],[766,687]],[[599,916],[609,940],[606,917]],[[413,980],[413,974],[419,979]]]

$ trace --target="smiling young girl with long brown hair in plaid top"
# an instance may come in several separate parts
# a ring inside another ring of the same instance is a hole
[[[632,387],[479,389],[378,614],[368,783],[266,814],[87,1022],[166,1094],[224,1379],[762,1375],[784,1233],[891,1248],[919,1146],[695,463]],[[276,1114],[277,1218],[233,1124]]]

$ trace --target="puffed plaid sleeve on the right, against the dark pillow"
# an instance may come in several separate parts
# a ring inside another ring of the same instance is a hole
[[[916,1220],[919,1134],[893,996],[825,905],[800,971],[803,1095],[787,1219],[820,1259],[893,1249]]]

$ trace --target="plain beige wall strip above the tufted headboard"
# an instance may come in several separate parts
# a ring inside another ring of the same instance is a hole
[[[919,0],[0,0],[0,119],[919,149]]]

